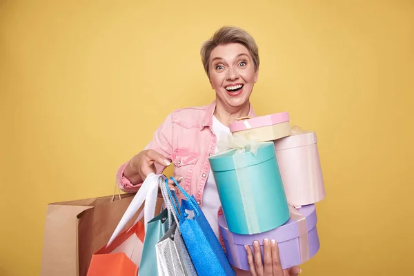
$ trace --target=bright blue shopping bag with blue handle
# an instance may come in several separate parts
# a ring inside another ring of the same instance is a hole
[[[181,200],[179,208],[179,230],[197,274],[199,276],[235,275],[235,271],[228,262],[219,240],[199,208],[195,197],[188,195],[173,177],[170,179],[175,182],[176,187],[186,198]]]

